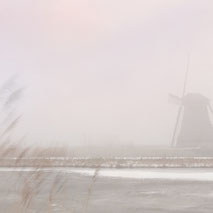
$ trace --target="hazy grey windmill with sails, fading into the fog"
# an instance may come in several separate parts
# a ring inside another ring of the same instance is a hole
[[[172,135],[172,147],[213,147],[213,126],[209,112],[213,112],[210,100],[199,93],[186,93],[189,60],[182,96],[170,95],[179,105]]]

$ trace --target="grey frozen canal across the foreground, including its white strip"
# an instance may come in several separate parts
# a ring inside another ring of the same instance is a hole
[[[0,174],[4,213],[213,211],[213,169],[0,168]]]

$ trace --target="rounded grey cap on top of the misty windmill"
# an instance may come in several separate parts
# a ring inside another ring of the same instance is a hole
[[[208,105],[210,100],[199,93],[188,93],[182,99],[183,105]]]

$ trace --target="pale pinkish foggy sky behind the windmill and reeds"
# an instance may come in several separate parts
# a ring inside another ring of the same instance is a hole
[[[211,0],[0,0],[0,83],[45,145],[170,145],[188,92],[213,99]]]

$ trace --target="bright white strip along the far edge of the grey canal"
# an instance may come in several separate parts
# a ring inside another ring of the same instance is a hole
[[[51,172],[94,176],[96,169],[87,168],[0,168],[0,172]],[[100,169],[97,178],[141,180],[213,181],[213,169]]]

